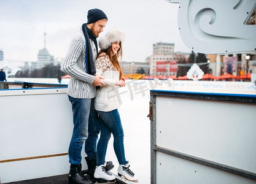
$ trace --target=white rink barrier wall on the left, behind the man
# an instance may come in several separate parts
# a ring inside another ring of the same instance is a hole
[[[5,91],[0,96],[1,161],[68,153],[73,123],[66,88],[11,90],[11,96]],[[0,163],[1,183],[67,174],[68,161],[65,155]],[[82,166],[86,169],[85,159]]]

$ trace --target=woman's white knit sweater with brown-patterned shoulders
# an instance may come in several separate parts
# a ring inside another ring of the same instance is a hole
[[[95,98],[95,109],[109,112],[120,107],[118,86],[115,82],[119,80],[119,72],[111,63],[106,53],[101,53],[95,63],[96,75],[101,75],[107,86],[99,88]]]

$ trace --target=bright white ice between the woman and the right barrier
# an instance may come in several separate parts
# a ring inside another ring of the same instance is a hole
[[[127,87],[123,89],[127,90]],[[121,91],[121,90],[120,90]],[[133,91],[134,92],[134,91]],[[125,132],[125,154],[130,161],[131,169],[138,175],[139,183],[150,183],[150,120],[149,90],[142,93],[120,95],[122,106],[118,109]],[[118,162],[114,155],[113,138],[109,141],[106,160],[113,161],[114,173],[117,173]]]

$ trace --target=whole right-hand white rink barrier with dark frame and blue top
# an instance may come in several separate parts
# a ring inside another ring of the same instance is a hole
[[[256,94],[150,91],[151,183],[256,183]]]

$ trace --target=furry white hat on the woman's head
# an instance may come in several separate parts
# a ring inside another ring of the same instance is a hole
[[[125,34],[122,29],[112,28],[102,37],[99,37],[99,48],[106,50],[113,42],[120,41],[122,44],[125,42]]]

